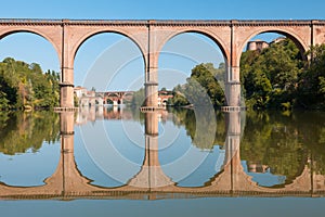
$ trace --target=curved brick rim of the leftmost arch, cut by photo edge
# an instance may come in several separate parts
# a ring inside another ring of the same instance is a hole
[[[47,33],[37,30],[37,29],[28,29],[28,28],[17,28],[17,29],[11,29],[8,31],[0,31],[0,40],[10,36],[10,35],[14,35],[14,34],[20,34],[20,33],[27,33],[27,34],[31,34],[31,35],[37,35],[40,36],[41,38],[46,39],[48,42],[50,42],[50,44],[52,46],[52,48],[55,50],[56,54],[57,54],[57,60],[58,60],[58,64],[60,66],[62,65],[62,49],[61,49],[61,44],[57,44],[54,40],[52,40],[52,38],[50,36],[47,35]]]

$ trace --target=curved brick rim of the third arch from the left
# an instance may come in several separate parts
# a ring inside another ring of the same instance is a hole
[[[172,31],[169,36],[167,36],[166,38],[164,38],[162,41],[159,42],[158,48],[157,48],[157,55],[159,55],[162,48],[167,44],[168,41],[170,41],[172,38],[174,38],[179,35],[182,35],[182,34],[199,34],[199,35],[205,36],[208,39],[212,40],[218,46],[218,48],[221,50],[225,64],[227,65],[230,63],[231,55],[230,55],[229,49],[226,49],[225,42],[220,37],[218,37],[216,34],[212,34],[206,29],[202,30],[202,29],[193,28],[193,29],[186,29],[186,30]],[[159,56],[156,56],[156,59],[158,60]]]

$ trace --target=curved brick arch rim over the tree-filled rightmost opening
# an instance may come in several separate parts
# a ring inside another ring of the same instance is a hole
[[[295,42],[295,44],[297,46],[297,48],[300,50],[301,56],[303,60],[307,60],[307,56],[304,55],[306,51],[308,51],[309,49],[309,44],[307,44],[300,36],[298,36],[297,34],[295,34],[291,30],[288,29],[282,29],[282,28],[268,28],[268,29],[258,29],[253,30],[251,34],[249,34],[240,43],[239,49],[237,50],[238,55],[237,55],[237,60],[236,61],[236,65],[240,64],[240,58],[243,54],[243,50],[245,48],[245,46],[248,43],[248,41],[253,38],[255,36],[258,36],[260,34],[266,34],[266,33],[275,33],[275,34],[281,34],[284,35],[285,37],[289,38],[290,40],[292,40]]]

